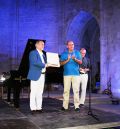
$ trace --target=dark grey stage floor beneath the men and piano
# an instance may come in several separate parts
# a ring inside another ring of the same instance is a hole
[[[79,113],[74,111],[72,97],[70,110],[61,111],[61,99],[58,94],[50,98],[44,96],[44,113],[34,115],[30,113],[27,98],[21,99],[20,111],[0,100],[0,129],[102,129],[120,126],[120,105],[112,105],[106,95],[92,94],[92,113],[99,121],[88,115],[88,96]]]

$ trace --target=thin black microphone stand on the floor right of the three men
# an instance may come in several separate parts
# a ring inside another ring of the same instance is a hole
[[[88,115],[92,116],[97,121],[100,121],[99,118],[97,118],[96,115],[93,114],[92,108],[91,108],[91,72],[89,71],[89,108],[88,108]]]

